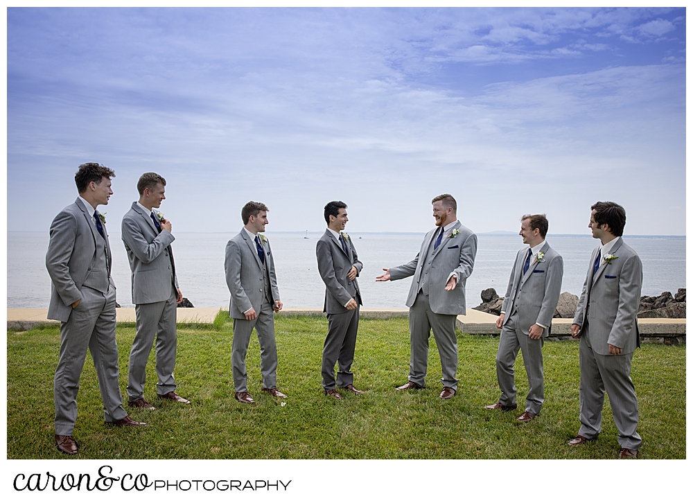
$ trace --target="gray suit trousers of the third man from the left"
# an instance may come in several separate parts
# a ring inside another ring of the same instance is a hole
[[[247,392],[247,371],[245,354],[253,328],[258,334],[260,343],[260,371],[263,388],[277,387],[277,343],[274,342],[274,311],[263,297],[262,306],[254,320],[234,318],[234,342],[231,346],[231,364],[234,371],[236,392]]]

